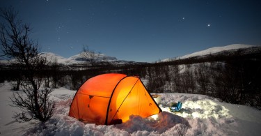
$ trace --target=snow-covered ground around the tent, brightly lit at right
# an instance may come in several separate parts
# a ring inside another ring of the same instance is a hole
[[[82,123],[70,116],[70,103],[76,91],[55,89],[52,98],[56,110],[45,124],[38,121],[15,121],[10,107],[10,83],[0,84],[0,135],[178,135],[182,124],[189,126],[186,135],[260,135],[261,111],[244,105],[222,103],[209,96],[162,93],[159,105],[164,112],[157,119],[130,116],[129,121],[112,126]],[[182,111],[171,113],[168,103],[181,101]],[[154,116],[155,117],[155,116]],[[182,123],[183,122],[183,123]]]

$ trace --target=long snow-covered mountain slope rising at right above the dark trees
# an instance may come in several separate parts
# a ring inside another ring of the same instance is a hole
[[[251,54],[253,52],[261,52],[261,46],[257,45],[243,45],[243,44],[233,44],[227,45],[223,47],[211,47],[207,50],[202,50],[199,52],[194,52],[192,54],[187,54],[184,56],[177,57],[175,59],[162,59],[161,62],[165,61],[174,61],[176,59],[189,59],[189,58],[196,58],[196,57],[204,57],[207,55],[219,55],[219,54],[227,54],[237,52],[238,50],[242,50],[241,54]]]

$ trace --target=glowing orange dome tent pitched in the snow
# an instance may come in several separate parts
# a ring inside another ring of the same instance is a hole
[[[110,73],[92,77],[78,89],[69,116],[86,123],[110,125],[130,115],[148,117],[161,109],[139,77]]]

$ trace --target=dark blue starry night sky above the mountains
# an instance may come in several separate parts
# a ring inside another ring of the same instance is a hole
[[[0,0],[42,52],[90,50],[153,62],[230,44],[261,45],[260,0]]]

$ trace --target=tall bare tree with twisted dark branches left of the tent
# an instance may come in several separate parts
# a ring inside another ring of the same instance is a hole
[[[49,100],[52,89],[40,88],[43,77],[39,74],[47,65],[47,59],[40,56],[38,43],[29,38],[29,25],[22,23],[17,15],[13,8],[4,8],[0,12],[3,19],[0,25],[2,52],[24,71],[20,83],[23,93],[13,93],[10,100],[13,106],[22,109],[21,113],[16,113],[16,119],[47,121],[54,112],[54,101]]]

